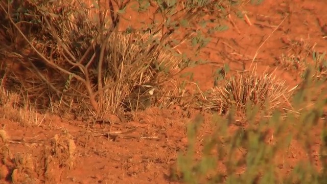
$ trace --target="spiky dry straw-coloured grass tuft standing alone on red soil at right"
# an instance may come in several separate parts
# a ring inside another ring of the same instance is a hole
[[[285,81],[272,74],[258,76],[254,72],[237,74],[227,78],[224,85],[213,88],[206,98],[206,109],[226,112],[232,106],[236,111],[245,112],[247,105],[258,106],[271,113],[278,107],[288,105],[293,89],[288,89]]]

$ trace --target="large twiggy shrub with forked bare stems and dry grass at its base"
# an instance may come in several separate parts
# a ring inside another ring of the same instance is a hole
[[[216,20],[203,17],[224,14],[226,2],[1,2],[0,25],[8,29],[0,34],[3,86],[30,94],[39,109],[93,115],[121,111],[136,84],[164,85],[185,67],[199,64],[178,47],[191,44],[198,55],[209,41],[205,35],[221,30],[206,26]],[[121,31],[127,9],[154,17]],[[199,20],[205,29],[194,29]]]

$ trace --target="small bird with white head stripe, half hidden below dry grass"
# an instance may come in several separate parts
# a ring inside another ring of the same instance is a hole
[[[131,110],[145,110],[152,104],[152,96],[157,87],[150,84],[137,85],[132,92],[126,97],[123,104],[125,109]]]

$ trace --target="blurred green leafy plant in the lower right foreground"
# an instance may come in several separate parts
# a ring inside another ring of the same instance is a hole
[[[311,76],[312,72],[307,71],[305,80],[293,96],[292,107],[299,110],[299,116],[289,112],[286,117],[282,117],[281,111],[274,110],[271,117],[261,117],[258,120],[253,118],[257,117],[257,111],[252,106],[246,106],[249,108],[246,117],[248,125],[231,133],[229,127],[235,124],[235,113],[230,112],[227,118],[216,113],[212,118],[213,131],[201,143],[203,147],[200,154],[195,153],[195,146],[203,119],[196,118],[188,126],[189,145],[185,154],[180,153],[172,176],[179,177],[186,183],[327,182],[327,125],[326,121],[322,125],[319,123],[327,104],[327,90],[320,91],[323,82]],[[317,99],[315,96],[318,96]],[[312,103],[312,98],[316,101],[310,106],[308,104]],[[308,158],[300,160],[288,175],[283,175],[279,168],[286,167],[286,163],[281,158],[291,154],[289,149],[292,143],[301,145],[310,157],[313,153],[312,145],[315,144],[312,130],[320,129],[320,126],[323,129],[320,132],[318,155],[322,170],[317,170],[315,162]]]

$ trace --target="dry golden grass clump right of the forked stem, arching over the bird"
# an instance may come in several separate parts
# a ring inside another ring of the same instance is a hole
[[[174,76],[180,72],[178,64],[181,63],[181,58],[175,57],[167,50],[160,50],[156,55],[138,60],[139,57],[142,57],[144,51],[149,50],[151,47],[151,44],[147,44],[149,36],[150,34],[144,33],[117,33],[113,37],[118,38],[119,42],[113,43],[111,41],[113,39],[109,39],[110,50],[107,52],[109,53],[107,59],[112,60],[112,57],[118,57],[119,63],[106,68],[104,85],[115,83],[126,76],[128,78],[100,93],[100,98],[103,99],[101,103],[103,112],[108,112],[110,109],[113,112],[112,110],[120,108],[121,102],[124,101],[135,85],[152,83],[162,86],[167,80],[170,80],[169,76]],[[113,56],[111,53],[115,52],[119,54]],[[116,71],[116,73],[113,71]],[[160,88],[156,92],[156,95],[160,94]]]

